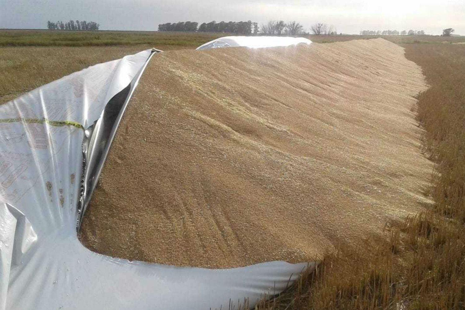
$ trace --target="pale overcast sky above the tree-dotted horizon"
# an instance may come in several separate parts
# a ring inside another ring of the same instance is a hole
[[[465,35],[465,0],[0,0],[0,28],[45,28],[47,20],[96,21],[102,30],[157,30],[177,21],[297,20],[338,33],[452,27]]]

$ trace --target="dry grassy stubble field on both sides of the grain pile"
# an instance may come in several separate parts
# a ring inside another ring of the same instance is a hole
[[[95,63],[150,47],[194,48],[222,35],[1,31],[0,103]],[[366,38],[373,37],[310,39]],[[431,85],[419,94],[417,120],[425,128],[422,151],[436,163],[432,176],[425,176],[433,181],[425,194],[435,207],[386,223],[384,238],[363,240],[356,248],[340,244],[317,272],[257,309],[465,308],[465,44],[456,44],[465,37],[385,39],[404,46]]]

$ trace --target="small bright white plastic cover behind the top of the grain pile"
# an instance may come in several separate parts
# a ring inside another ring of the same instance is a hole
[[[228,36],[222,37],[197,47],[197,50],[207,50],[219,47],[246,46],[250,48],[291,46],[298,44],[310,45],[312,41],[306,38],[294,37],[268,37],[268,36]]]

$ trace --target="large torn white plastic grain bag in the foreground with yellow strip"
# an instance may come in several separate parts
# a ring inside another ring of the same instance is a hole
[[[84,130],[150,55],[92,66],[0,105],[0,310],[227,309],[279,293],[314,267],[182,268],[108,257],[80,243]]]

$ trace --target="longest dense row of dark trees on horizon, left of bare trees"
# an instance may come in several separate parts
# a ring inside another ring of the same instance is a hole
[[[185,31],[185,32],[218,32],[237,34],[257,34],[259,27],[257,23],[248,21],[211,21],[209,23],[199,23],[196,21],[179,21],[177,23],[165,23],[158,25],[158,31]]]

